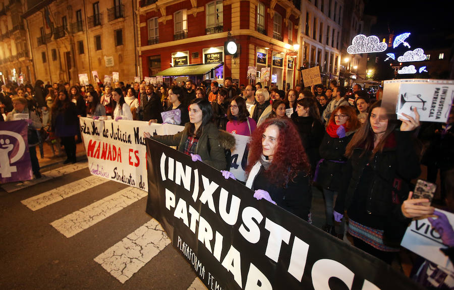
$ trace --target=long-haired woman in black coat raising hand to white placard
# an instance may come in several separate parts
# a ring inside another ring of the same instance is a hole
[[[410,180],[421,172],[412,132],[419,127],[416,108],[415,114],[415,119],[403,114],[409,121],[395,130],[381,101],[372,105],[369,118],[346,148],[346,182],[334,207],[336,221],[347,210],[354,245],[389,264],[411,221],[402,214],[401,204]]]

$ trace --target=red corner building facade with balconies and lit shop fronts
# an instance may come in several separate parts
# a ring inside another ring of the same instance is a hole
[[[143,77],[172,67],[218,64],[189,76],[198,83],[232,77],[247,84],[260,80],[262,68],[270,68],[269,82],[293,87],[300,14],[300,2],[288,0],[144,0],[139,8]],[[224,49],[228,39],[238,44],[234,55]],[[248,67],[257,68],[256,80],[247,78]]]

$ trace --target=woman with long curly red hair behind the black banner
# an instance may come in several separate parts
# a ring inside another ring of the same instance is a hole
[[[310,164],[290,119],[268,119],[252,134],[246,186],[256,199],[266,199],[308,220],[312,192]]]

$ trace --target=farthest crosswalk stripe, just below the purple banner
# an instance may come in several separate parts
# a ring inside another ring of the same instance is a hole
[[[87,161],[78,162],[75,164],[70,164],[70,165],[66,165],[66,166],[56,168],[56,169],[42,172],[41,173],[42,177],[40,179],[32,179],[32,180],[22,181],[22,182],[7,183],[7,184],[2,185],[2,188],[6,192],[11,193],[11,192],[15,192],[15,191],[27,188],[29,186],[32,186],[32,185],[35,185],[38,183],[43,183],[48,180],[54,179],[56,177],[60,177],[62,175],[66,175],[68,173],[72,173],[74,171],[84,169],[84,168],[88,168]]]

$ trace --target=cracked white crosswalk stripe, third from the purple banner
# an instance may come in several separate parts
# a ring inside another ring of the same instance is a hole
[[[128,187],[50,224],[65,237],[70,238],[146,196],[146,191]]]

